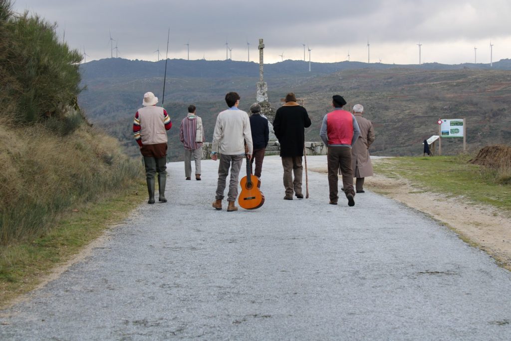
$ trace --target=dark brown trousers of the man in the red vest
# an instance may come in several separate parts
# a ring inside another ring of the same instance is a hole
[[[344,194],[355,195],[353,190],[353,170],[351,165],[351,148],[350,147],[328,147],[328,185],[330,187],[330,200],[337,202],[337,182],[339,180],[339,168],[342,174],[342,187]]]

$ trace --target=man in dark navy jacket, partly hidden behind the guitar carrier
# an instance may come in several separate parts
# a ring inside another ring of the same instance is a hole
[[[255,169],[253,174],[261,177],[261,170],[263,169],[264,153],[268,145],[270,129],[268,128],[268,119],[261,116],[261,105],[258,103],[250,106],[250,113],[252,114],[248,119],[250,120],[250,131],[252,133],[253,154],[250,160],[250,166],[253,165],[255,160]]]

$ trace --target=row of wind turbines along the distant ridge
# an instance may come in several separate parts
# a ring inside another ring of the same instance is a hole
[[[113,50],[115,50],[115,58],[118,58],[119,57],[119,48],[117,47],[118,41],[112,38],[111,31],[108,31],[108,34],[109,34],[110,38],[108,40],[107,46],[108,45],[110,46],[110,58],[113,58]],[[115,47],[113,46],[113,42],[115,42]],[[307,61],[306,60],[306,49],[305,49],[305,47],[307,46],[307,51],[309,52],[309,71],[311,71],[311,51],[312,51],[312,49],[309,47],[308,44],[302,43],[302,45],[304,47],[304,61]],[[419,65],[420,65],[422,63],[421,53],[422,53],[423,44],[421,44],[421,42],[419,42],[416,45],[419,47]],[[183,46],[187,47],[187,59],[190,60],[190,40],[188,40],[187,43],[183,44]],[[493,66],[493,47],[494,46],[495,45],[492,44],[492,41],[490,40],[490,66]],[[159,46],[155,51],[153,51],[153,53],[157,53],[157,61],[159,61],[160,55],[161,55],[160,51],[159,51]],[[229,56],[229,54],[230,54],[230,56]],[[282,52],[282,54],[280,54],[278,56],[281,57],[281,61],[284,61],[284,51]],[[85,52],[85,47],[84,47],[83,48],[84,62],[86,62],[86,57],[90,57],[90,56]],[[232,60],[232,57],[233,57],[233,49],[229,47],[229,42],[227,40],[225,40],[225,60]],[[205,57],[203,57],[202,59],[205,59]],[[247,60],[248,60],[248,62],[250,62],[250,42],[248,42],[248,40],[247,40]],[[347,61],[350,61],[350,51],[349,50],[348,50],[348,54],[347,54]],[[382,60],[380,59],[380,63],[381,62],[382,62]],[[367,63],[370,63],[369,38],[367,38]],[[474,63],[477,64],[477,47],[474,47]]]

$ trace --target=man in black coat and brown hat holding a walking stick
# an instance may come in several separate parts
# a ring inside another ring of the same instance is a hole
[[[273,120],[273,131],[281,145],[282,167],[284,168],[284,200],[293,200],[293,192],[298,199],[303,199],[301,193],[301,178],[304,156],[305,128],[311,126],[307,110],[296,103],[293,93],[286,95],[286,104],[277,109]],[[294,173],[294,179],[292,176]]]

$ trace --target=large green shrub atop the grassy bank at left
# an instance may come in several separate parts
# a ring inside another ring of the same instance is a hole
[[[0,0],[0,105],[15,122],[63,120],[80,93],[82,56],[59,41],[55,25],[26,12],[14,16]]]

